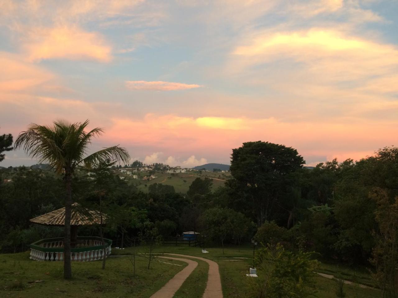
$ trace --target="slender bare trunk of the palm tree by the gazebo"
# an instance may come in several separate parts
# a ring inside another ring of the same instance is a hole
[[[65,232],[64,232],[64,279],[72,278],[72,266],[70,263],[70,217],[72,213],[72,176],[65,174]]]

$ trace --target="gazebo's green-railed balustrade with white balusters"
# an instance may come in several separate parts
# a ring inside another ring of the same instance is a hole
[[[63,261],[64,238],[42,239],[30,245],[30,258],[36,261]],[[77,237],[74,248],[71,248],[72,261],[95,261],[107,257],[112,252],[112,240],[100,237]]]

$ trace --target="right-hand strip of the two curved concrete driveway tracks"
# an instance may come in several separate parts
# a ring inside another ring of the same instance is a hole
[[[191,259],[198,259],[198,260],[202,260],[202,261],[205,261],[206,263],[208,263],[209,264],[209,273],[208,273],[208,277],[207,277],[206,289],[205,289],[205,292],[203,293],[203,298],[223,298],[222,288],[221,288],[221,278],[220,278],[220,273],[219,273],[219,265],[215,261],[205,259],[204,257],[194,257],[192,255],[181,255],[178,253],[164,253],[164,255],[176,255],[178,257],[189,257]],[[185,262],[185,259],[181,259],[181,260],[183,260]],[[187,277],[188,276],[186,276],[185,278],[187,278]],[[160,296],[158,296],[158,297],[160,298]]]

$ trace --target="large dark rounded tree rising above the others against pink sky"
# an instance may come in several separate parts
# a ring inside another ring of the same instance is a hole
[[[236,208],[242,210],[242,206],[248,206],[246,210],[259,226],[270,219],[289,174],[305,163],[296,149],[262,141],[243,143],[242,147],[232,149],[231,159],[232,179],[228,185],[238,198]]]

